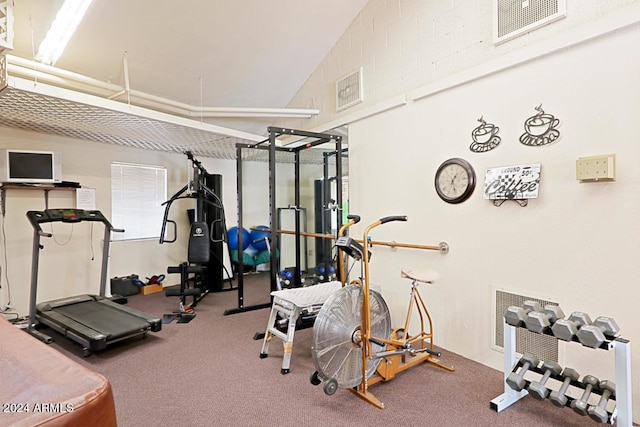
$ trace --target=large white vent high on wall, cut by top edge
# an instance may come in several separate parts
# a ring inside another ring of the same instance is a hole
[[[493,0],[493,43],[505,42],[566,14],[566,0]]]

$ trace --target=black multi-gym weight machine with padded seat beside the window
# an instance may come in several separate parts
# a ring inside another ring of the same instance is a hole
[[[165,321],[178,318],[180,323],[190,321],[196,307],[209,292],[223,289],[223,242],[227,240],[224,206],[221,200],[222,176],[209,174],[190,151],[187,184],[176,192],[165,206],[160,243],[173,243],[177,238],[177,224],[169,219],[171,205],[178,199],[194,199],[195,208],[187,211],[191,223],[187,260],[178,266],[167,268],[167,273],[180,274],[180,288],[167,289],[165,295],[179,296],[180,309],[173,315],[165,315]],[[167,224],[173,225],[173,238],[166,238]],[[229,276],[230,277],[230,276]],[[193,286],[189,286],[189,284]],[[187,297],[192,297],[191,303]]]

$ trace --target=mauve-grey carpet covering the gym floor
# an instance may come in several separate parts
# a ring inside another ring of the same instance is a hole
[[[264,275],[245,279],[245,306],[268,302]],[[163,294],[129,297],[129,306],[162,317],[177,307]],[[225,316],[237,308],[237,291],[208,295],[190,323],[163,325],[146,339],[115,344],[82,357],[74,343],[56,338],[53,346],[105,375],[113,386],[120,426],[589,426],[598,425],[569,408],[526,397],[501,413],[489,401],[503,391],[502,372],[442,351],[448,372],[422,364],[378,383],[370,391],[380,410],[347,390],[327,396],[313,386],[312,329],[296,332],[291,372],[280,373],[283,346],[277,338],[260,359],[268,309]],[[437,319],[435,320],[437,322]]]

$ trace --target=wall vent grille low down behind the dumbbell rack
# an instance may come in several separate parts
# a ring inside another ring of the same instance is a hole
[[[504,312],[509,306],[522,306],[526,300],[536,301],[543,307],[547,304],[558,305],[552,301],[496,290],[496,347],[502,348],[504,346]],[[549,335],[536,334],[524,328],[516,328],[516,352],[520,354],[533,353],[540,360],[558,362],[558,340]]]

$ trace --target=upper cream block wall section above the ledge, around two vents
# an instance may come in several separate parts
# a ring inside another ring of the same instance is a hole
[[[488,0],[370,0],[289,103],[318,108],[312,119],[278,125],[324,131],[343,118],[399,94],[440,82],[478,64],[523,52],[538,42],[560,44],[567,33],[590,37],[619,22],[638,19],[637,0],[567,0],[567,16],[494,46]],[[595,23],[595,28],[588,27]],[[580,34],[582,29],[586,32]],[[335,82],[363,68],[364,102],[335,110]]]

